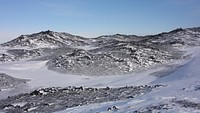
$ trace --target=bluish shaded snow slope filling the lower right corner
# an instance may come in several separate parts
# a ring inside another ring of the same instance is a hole
[[[59,113],[109,113],[110,111],[116,113],[199,113],[200,48],[188,49],[188,53],[193,55],[179,64],[176,70],[170,73],[165,71],[167,75],[148,83],[149,85],[162,84],[164,87],[134,99],[85,105]]]

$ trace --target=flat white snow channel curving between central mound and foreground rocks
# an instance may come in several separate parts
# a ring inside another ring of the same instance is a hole
[[[149,76],[151,73],[164,69],[157,67],[129,75],[114,76],[78,76],[50,71],[46,67],[47,61],[19,61],[0,64],[1,73],[6,73],[16,78],[29,79],[28,85],[35,87],[120,87],[130,85],[143,85],[154,81],[157,77]]]

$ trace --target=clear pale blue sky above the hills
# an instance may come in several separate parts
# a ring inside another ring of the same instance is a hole
[[[0,0],[0,42],[44,30],[85,37],[200,26],[200,0]]]

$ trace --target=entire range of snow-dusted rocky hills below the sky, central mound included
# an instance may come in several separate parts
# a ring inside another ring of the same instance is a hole
[[[0,45],[0,62],[47,60],[50,70],[75,75],[121,75],[182,59],[181,48],[200,45],[200,27],[156,35],[85,38],[42,31]]]

